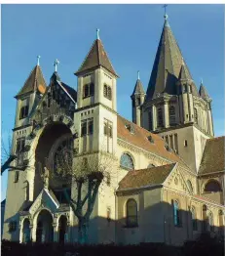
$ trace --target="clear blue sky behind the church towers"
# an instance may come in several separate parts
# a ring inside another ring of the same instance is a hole
[[[212,98],[215,136],[224,134],[224,6],[169,5],[169,24],[199,87]],[[14,126],[16,99],[36,56],[47,83],[60,62],[61,80],[76,89],[74,71],[90,50],[95,29],[120,75],[118,112],[131,119],[131,93],[140,70],[146,90],[164,24],[162,5],[2,5],[2,137]],[[7,173],[2,179],[5,197]]]

